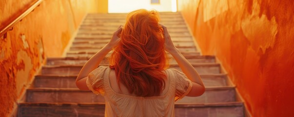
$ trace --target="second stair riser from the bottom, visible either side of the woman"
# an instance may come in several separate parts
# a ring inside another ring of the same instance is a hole
[[[200,97],[184,97],[176,103],[219,103],[234,102],[235,87],[206,87]],[[91,91],[78,88],[29,88],[26,91],[26,102],[105,102],[104,97]]]

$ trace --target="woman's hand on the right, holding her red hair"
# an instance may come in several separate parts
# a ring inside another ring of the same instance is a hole
[[[161,27],[162,27],[162,29],[164,31],[163,34],[164,34],[164,40],[165,40],[164,41],[165,50],[167,52],[171,53],[172,51],[176,50],[176,46],[174,45],[174,43],[173,43],[173,41],[171,39],[171,36],[167,31],[167,28],[162,24],[160,24],[160,25],[161,25]]]

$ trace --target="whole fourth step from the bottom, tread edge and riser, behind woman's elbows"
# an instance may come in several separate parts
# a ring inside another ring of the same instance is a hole
[[[103,64],[100,64],[103,65]],[[108,64],[104,64],[108,66]],[[199,74],[219,74],[220,66],[218,63],[192,63]],[[83,65],[45,65],[42,67],[41,74],[53,75],[77,75]],[[171,68],[181,71],[177,64],[170,64]]]

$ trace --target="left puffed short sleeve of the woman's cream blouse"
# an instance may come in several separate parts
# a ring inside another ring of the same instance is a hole
[[[99,66],[88,75],[86,83],[88,88],[94,94],[101,94],[102,96],[104,96],[105,91],[103,84],[103,76],[107,68],[107,66]]]

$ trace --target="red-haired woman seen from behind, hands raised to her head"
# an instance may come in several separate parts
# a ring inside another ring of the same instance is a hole
[[[79,89],[104,96],[105,117],[174,117],[176,100],[204,93],[199,74],[158,22],[156,11],[129,13],[125,25],[79,72]],[[110,66],[98,67],[111,50]],[[165,51],[176,59],[184,74],[167,69]]]

